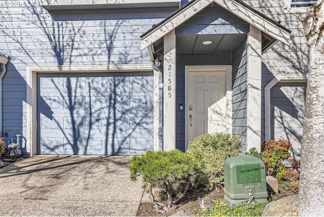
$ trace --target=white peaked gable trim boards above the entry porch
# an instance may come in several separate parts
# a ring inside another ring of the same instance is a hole
[[[175,29],[183,22],[206,8],[211,4],[218,4],[227,11],[245,20],[247,23],[260,29],[262,32],[269,35],[272,40],[270,48],[278,41],[289,45],[289,38],[291,30],[281,25],[279,22],[261,14],[257,10],[241,2],[240,0],[192,0],[184,7],[180,8],[169,17],[154,25],[151,29],[141,35],[141,49],[145,49],[157,40],[161,39]]]

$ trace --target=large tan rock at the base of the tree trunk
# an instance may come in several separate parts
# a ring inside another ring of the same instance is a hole
[[[262,216],[298,216],[298,194],[268,203]]]

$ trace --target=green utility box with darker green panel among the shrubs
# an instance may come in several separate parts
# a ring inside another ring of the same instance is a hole
[[[250,199],[267,204],[268,192],[264,163],[261,159],[240,155],[224,162],[224,201],[231,207]]]

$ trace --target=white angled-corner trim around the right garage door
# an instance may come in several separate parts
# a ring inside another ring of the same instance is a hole
[[[277,75],[264,87],[265,140],[271,137],[271,88],[279,82],[307,82],[308,74]]]

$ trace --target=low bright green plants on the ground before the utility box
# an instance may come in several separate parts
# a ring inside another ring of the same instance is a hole
[[[198,211],[197,216],[261,216],[265,205],[255,203],[254,205],[245,206],[247,201],[243,201],[235,207],[230,207],[224,202],[214,200],[216,203],[214,207]]]

